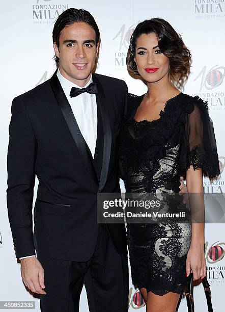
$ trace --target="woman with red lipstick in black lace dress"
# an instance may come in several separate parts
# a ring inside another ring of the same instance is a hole
[[[203,194],[203,174],[211,179],[219,175],[207,103],[180,92],[190,63],[190,51],[168,22],[152,18],[137,25],[127,67],[148,91],[130,95],[121,132],[127,193],[174,194],[184,176],[188,193]],[[127,224],[127,239],[132,281],[147,312],[175,312],[190,272],[194,280],[206,276],[204,224]]]

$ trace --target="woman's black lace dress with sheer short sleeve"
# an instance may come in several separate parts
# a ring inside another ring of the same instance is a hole
[[[168,100],[157,120],[135,121],[144,95],[129,95],[120,137],[120,169],[127,193],[179,192],[180,176],[202,168],[219,175],[218,154],[207,102],[180,93]],[[131,276],[136,288],[157,295],[183,293],[190,223],[127,224]]]

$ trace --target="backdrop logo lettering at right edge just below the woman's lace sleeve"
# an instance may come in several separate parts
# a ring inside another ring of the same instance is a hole
[[[224,166],[225,166],[225,157],[220,156],[219,157],[219,169],[220,169],[221,176],[222,176]],[[213,180],[212,182],[210,182],[208,178],[204,178],[203,191],[204,193],[212,193],[212,194],[225,193],[224,180],[218,179],[218,180]]]

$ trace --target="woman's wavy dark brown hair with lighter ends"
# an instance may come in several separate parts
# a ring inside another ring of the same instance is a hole
[[[136,41],[140,35],[155,33],[161,52],[169,59],[170,80],[182,87],[190,73],[191,53],[181,36],[162,18],[151,18],[139,23],[131,38],[127,52],[127,68],[130,74],[139,75],[134,61]]]

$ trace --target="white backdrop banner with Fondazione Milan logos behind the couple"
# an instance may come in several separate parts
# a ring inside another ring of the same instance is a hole
[[[205,193],[225,192],[225,44],[224,0],[113,0],[83,2],[76,0],[11,0],[1,1],[1,154],[0,154],[0,301],[40,300],[26,291],[20,276],[20,264],[15,259],[8,223],[7,147],[12,99],[43,83],[55,71],[52,29],[55,19],[68,8],[90,11],[101,33],[101,48],[97,73],[125,80],[130,93],[146,92],[146,86],[132,79],[126,69],[126,53],[136,24],[144,19],[161,17],[170,22],[191,50],[192,67],[184,91],[208,100],[214,123],[220,160],[221,177],[210,183],[204,180]],[[37,189],[37,184],[35,190]],[[121,181],[122,190],[124,187]],[[15,207],[16,209],[16,207]],[[213,203],[210,206],[213,212]],[[206,224],[206,263],[215,312],[224,310],[225,234],[224,224]],[[61,248],[61,246],[59,246]],[[38,297],[38,296],[37,296]],[[195,309],[205,312],[207,304],[202,285],[194,288]],[[145,303],[130,280],[129,311],[145,311]],[[88,303],[83,289],[80,311],[87,312]],[[17,309],[12,309],[17,311]],[[182,298],[179,312],[187,311]],[[116,312],[116,311],[115,311]]]

